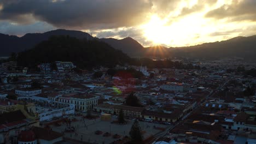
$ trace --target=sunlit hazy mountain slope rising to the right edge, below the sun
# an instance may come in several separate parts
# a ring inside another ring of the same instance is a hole
[[[174,56],[205,59],[241,57],[246,61],[255,61],[256,35],[251,37],[236,37],[229,40],[188,47],[170,47],[170,51]]]

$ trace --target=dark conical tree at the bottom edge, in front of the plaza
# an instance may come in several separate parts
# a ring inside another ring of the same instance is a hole
[[[135,120],[132,124],[130,136],[132,143],[143,143],[143,136],[141,134],[141,127],[139,127],[138,120]]]

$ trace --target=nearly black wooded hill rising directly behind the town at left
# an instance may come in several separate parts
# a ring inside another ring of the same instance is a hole
[[[130,57],[98,40],[81,40],[68,35],[52,36],[30,50],[20,52],[18,65],[37,68],[40,63],[71,61],[79,68],[114,67],[131,61]]]

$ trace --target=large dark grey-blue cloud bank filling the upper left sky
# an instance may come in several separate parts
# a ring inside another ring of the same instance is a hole
[[[152,7],[144,0],[3,0],[0,20],[22,23],[25,15],[60,28],[116,28],[138,25],[147,20]]]

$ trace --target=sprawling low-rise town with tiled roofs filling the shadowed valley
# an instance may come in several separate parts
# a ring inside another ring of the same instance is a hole
[[[0,143],[256,143],[256,63],[0,66]],[[154,60],[164,61],[164,60]],[[254,71],[254,72],[253,72]]]

